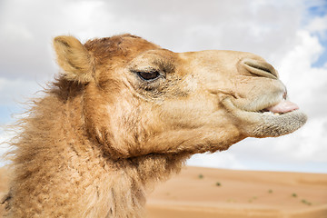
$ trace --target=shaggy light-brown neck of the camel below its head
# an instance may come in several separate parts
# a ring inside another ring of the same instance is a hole
[[[82,95],[59,99],[53,92],[32,111],[15,143],[9,217],[143,217],[145,187],[179,172],[188,157],[147,154],[117,160],[104,154],[82,134]]]

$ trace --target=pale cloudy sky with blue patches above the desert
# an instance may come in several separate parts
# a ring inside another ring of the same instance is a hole
[[[228,151],[195,154],[189,165],[327,173],[327,0],[2,0],[0,125],[59,70],[52,40],[81,42],[131,33],[173,52],[259,54],[309,120],[294,134],[248,138]],[[13,134],[0,130],[0,142]],[[7,150],[5,144],[0,154]],[[3,164],[3,163],[2,163]]]

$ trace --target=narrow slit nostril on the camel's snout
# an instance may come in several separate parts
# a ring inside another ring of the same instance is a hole
[[[278,79],[278,74],[271,64],[264,61],[257,61],[253,59],[244,59],[243,65],[251,73],[259,76]]]

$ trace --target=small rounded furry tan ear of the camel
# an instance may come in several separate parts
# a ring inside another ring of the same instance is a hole
[[[94,81],[94,57],[73,36],[54,38],[57,62],[67,80],[88,83]]]

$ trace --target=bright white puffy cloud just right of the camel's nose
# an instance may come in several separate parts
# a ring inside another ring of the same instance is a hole
[[[295,45],[282,56],[277,69],[292,100],[303,103],[303,106],[309,106],[310,109],[314,106],[312,100],[319,100],[317,96],[322,96],[321,93],[315,93],[315,89],[327,83],[326,68],[312,67],[322,54],[323,47],[318,38],[306,30],[298,30],[294,41]]]

